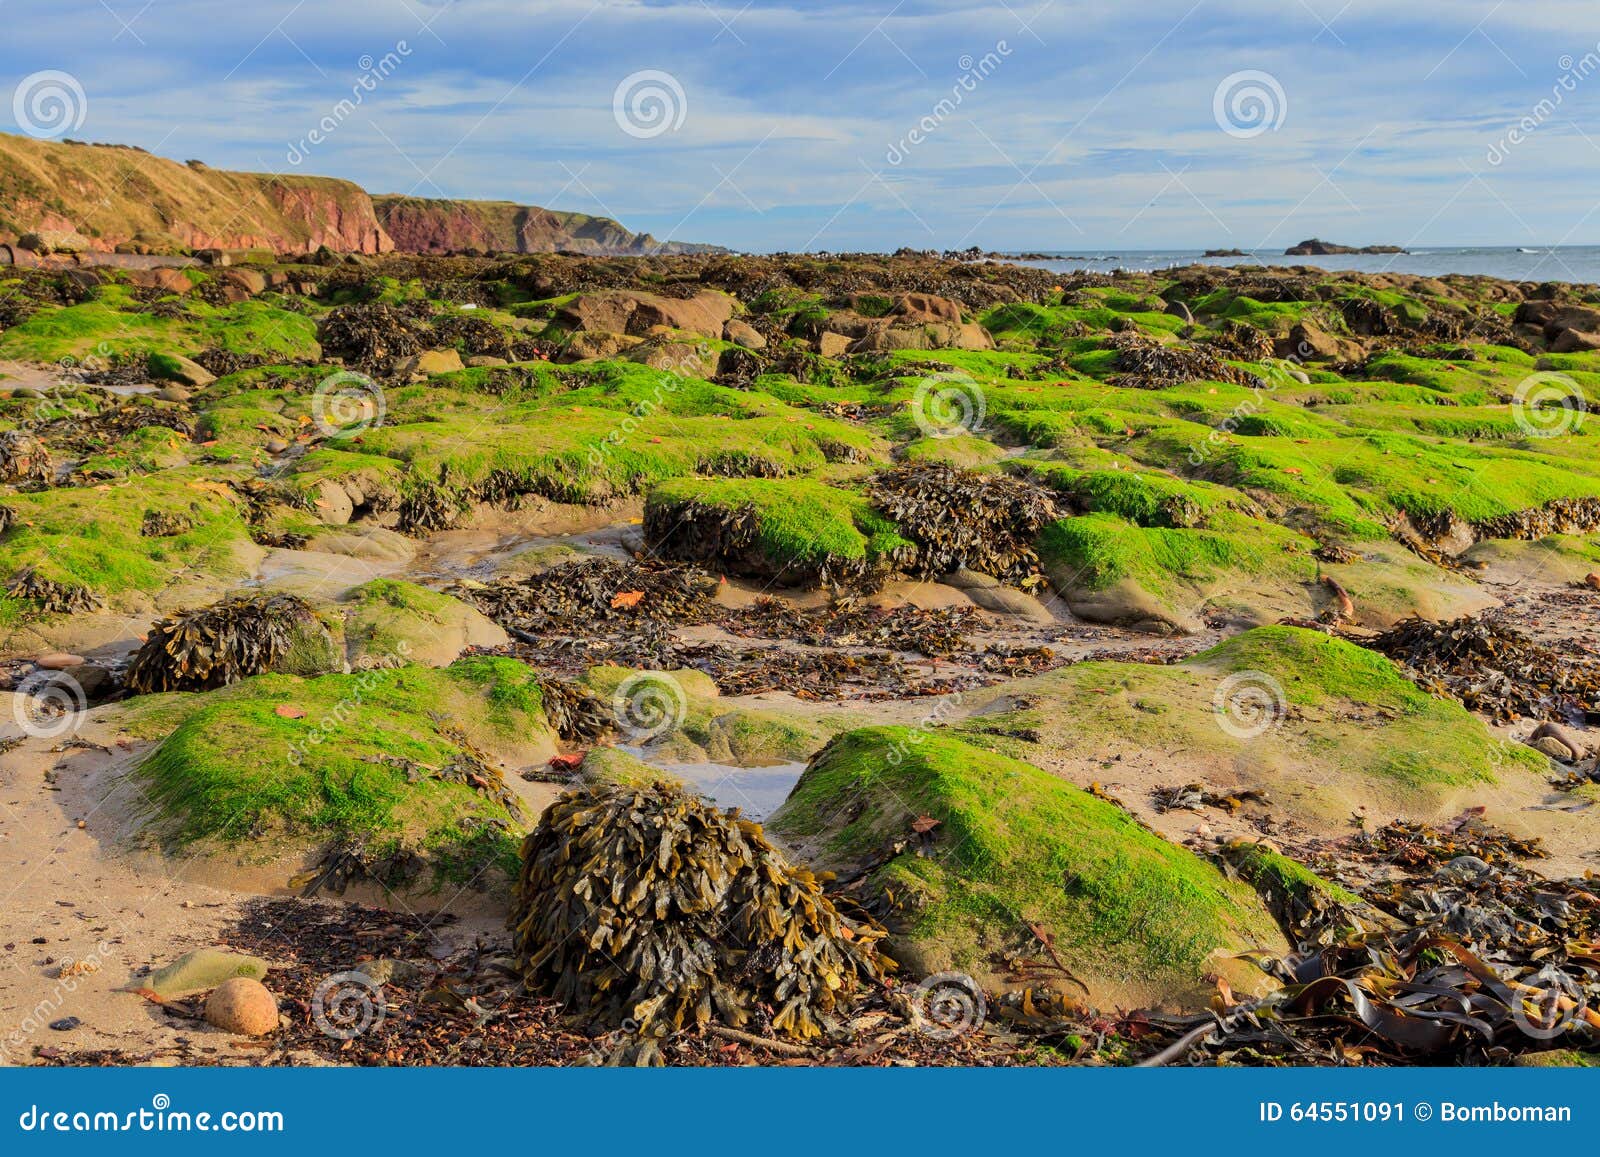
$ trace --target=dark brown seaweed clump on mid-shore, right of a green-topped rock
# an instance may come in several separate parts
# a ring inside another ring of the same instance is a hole
[[[1003,474],[920,464],[872,480],[874,504],[917,542],[912,573],[973,570],[1006,583],[1038,583],[1034,539],[1059,517],[1048,490]]]

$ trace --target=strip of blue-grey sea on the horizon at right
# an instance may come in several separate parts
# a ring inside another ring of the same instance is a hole
[[[1315,258],[1290,258],[1283,250],[1246,250],[1242,258],[1205,258],[1205,250],[1106,250],[1054,253],[1040,250],[1042,261],[1019,264],[1040,266],[1058,274],[1117,269],[1154,272],[1173,266],[1315,266],[1328,272],[1357,274],[1480,274],[1510,282],[1578,282],[1600,283],[1600,245],[1546,246],[1427,246],[1406,253],[1341,253]]]

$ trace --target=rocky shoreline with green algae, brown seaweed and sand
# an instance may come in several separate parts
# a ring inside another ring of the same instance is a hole
[[[1592,1048],[1517,994],[1600,995],[1595,286],[910,251],[0,280],[14,1063]],[[651,912],[640,815],[693,866]],[[552,947],[613,893],[606,962]],[[200,949],[264,968],[171,989]],[[352,973],[376,1026],[339,1035]]]

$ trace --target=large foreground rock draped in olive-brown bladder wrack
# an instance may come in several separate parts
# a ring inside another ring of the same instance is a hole
[[[510,912],[538,991],[646,1037],[773,1010],[808,1040],[883,962],[758,824],[682,787],[579,787],[523,843]]]

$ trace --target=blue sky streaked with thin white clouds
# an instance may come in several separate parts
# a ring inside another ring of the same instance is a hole
[[[1600,243],[1594,0],[0,0],[0,21],[5,131],[662,240]]]

